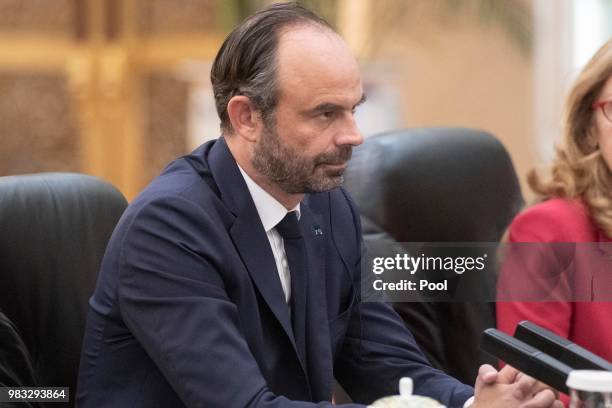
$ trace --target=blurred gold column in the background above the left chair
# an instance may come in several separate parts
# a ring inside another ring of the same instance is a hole
[[[83,170],[109,180],[128,199],[142,187],[134,8],[134,0],[86,1],[89,24],[68,64],[80,118]]]

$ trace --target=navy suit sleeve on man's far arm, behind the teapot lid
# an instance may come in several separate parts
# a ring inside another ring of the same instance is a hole
[[[361,227],[349,200],[359,244]],[[360,298],[360,263],[354,265],[354,287]],[[354,302],[335,375],[353,399],[369,403],[398,393],[401,377],[411,377],[415,394],[435,398],[448,407],[462,407],[474,394],[472,387],[429,365],[414,337],[391,306],[382,302]]]

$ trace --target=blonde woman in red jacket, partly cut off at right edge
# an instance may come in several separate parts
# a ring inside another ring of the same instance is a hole
[[[542,178],[532,171],[528,182],[539,200],[514,219],[508,231],[510,243],[604,243],[597,245],[608,251],[612,248],[612,40],[591,58],[571,89],[566,101],[564,139],[549,176]],[[581,249],[577,244],[575,255],[579,251],[584,255],[593,246],[582,244]],[[531,255],[544,256],[535,252]],[[572,261],[574,266],[580,264]],[[612,275],[612,258],[606,261]],[[508,262],[506,258],[504,267]],[[578,271],[585,272],[591,273]],[[538,278],[542,277],[532,275],[529,282]],[[529,282],[522,283],[527,286]],[[604,300],[612,300],[611,296]],[[518,322],[531,320],[612,360],[612,303],[582,300],[498,302],[498,326],[512,334]]]

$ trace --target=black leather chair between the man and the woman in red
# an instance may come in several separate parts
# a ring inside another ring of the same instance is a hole
[[[366,245],[496,242],[523,199],[514,167],[492,135],[470,129],[398,130],[366,139],[345,174],[362,214]],[[495,277],[492,277],[494,285]],[[473,384],[491,303],[396,303],[432,365]]]

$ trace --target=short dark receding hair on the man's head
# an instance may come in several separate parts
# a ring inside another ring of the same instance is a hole
[[[274,113],[279,32],[296,24],[332,29],[323,18],[297,3],[277,3],[248,17],[225,39],[210,71],[222,131],[232,131],[227,104],[235,95],[249,97],[264,121]]]

